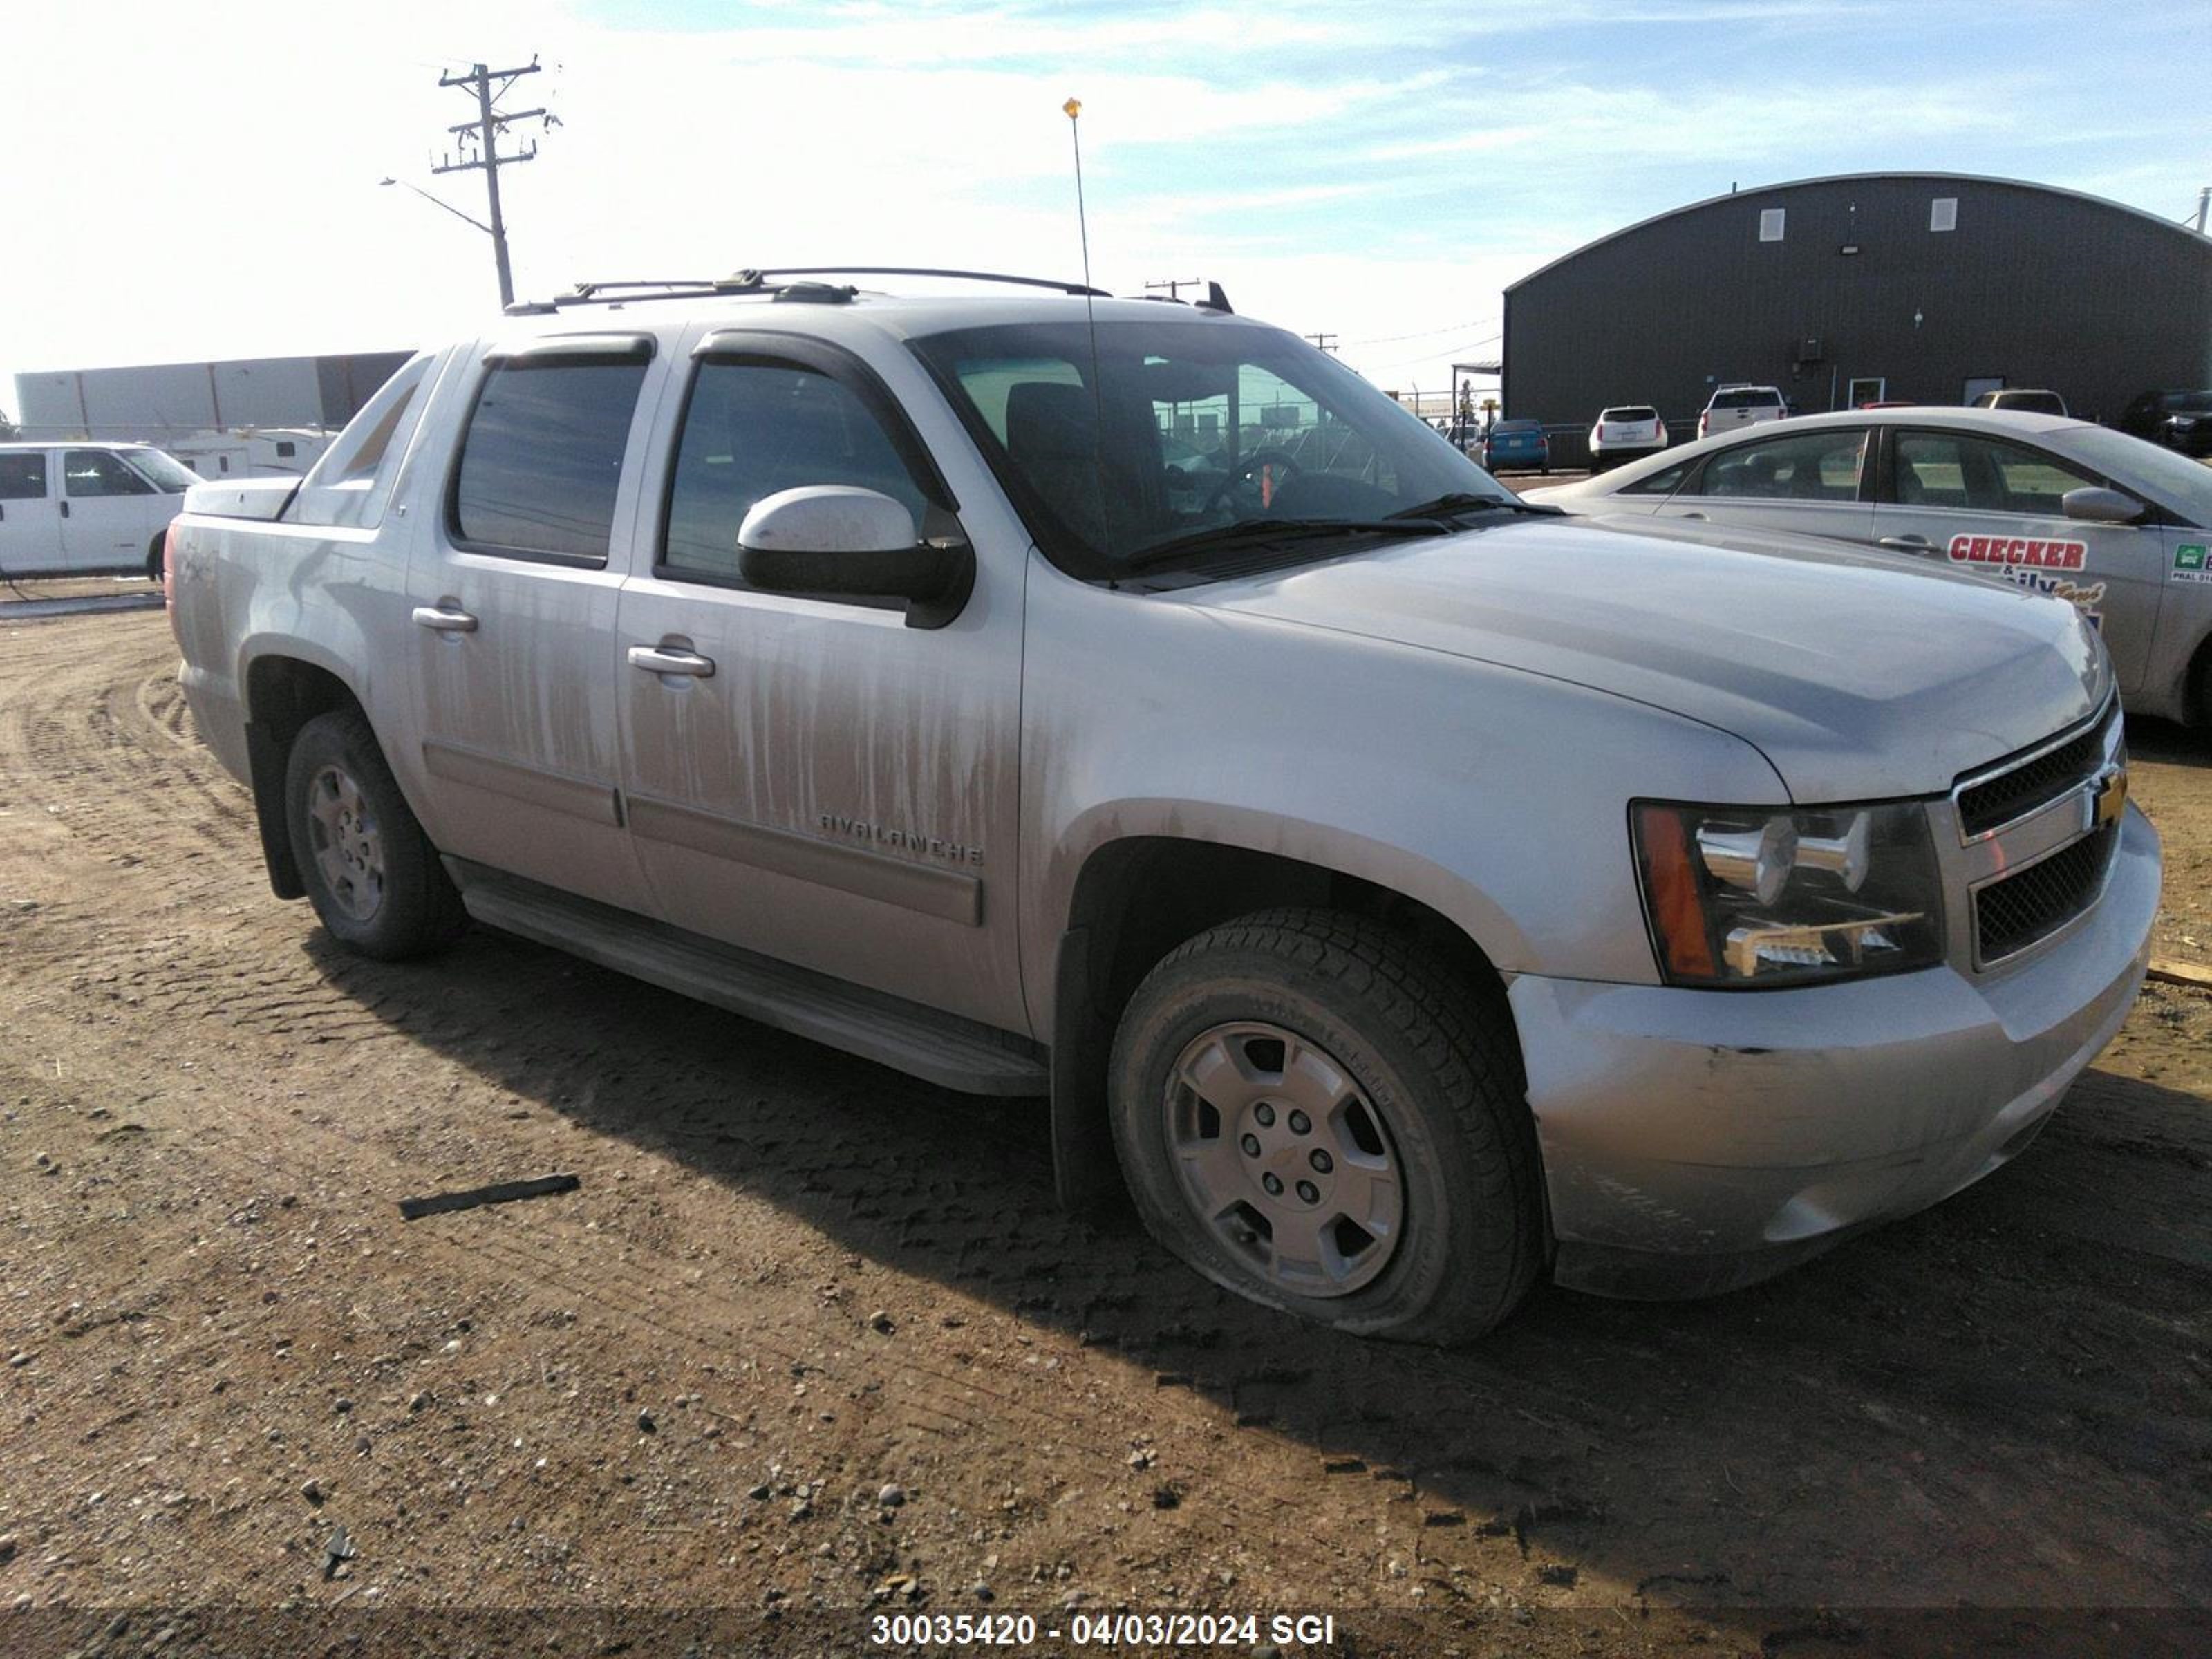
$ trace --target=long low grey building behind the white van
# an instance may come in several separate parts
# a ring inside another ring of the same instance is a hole
[[[409,356],[352,352],[18,374],[18,422],[24,438],[122,442],[241,427],[336,431]]]

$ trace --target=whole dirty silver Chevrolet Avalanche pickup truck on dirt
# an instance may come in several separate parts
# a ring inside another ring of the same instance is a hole
[[[1219,296],[790,276],[515,307],[190,493],[184,686],[336,940],[1048,1097],[1062,1201],[1416,1340],[1936,1203],[2135,1000],[2062,599],[1522,504]]]

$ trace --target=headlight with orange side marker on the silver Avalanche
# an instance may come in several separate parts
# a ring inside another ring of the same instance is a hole
[[[1927,810],[1630,805],[1659,973],[1717,989],[1900,973],[1942,960]]]

